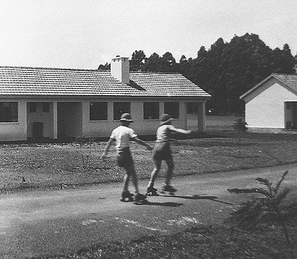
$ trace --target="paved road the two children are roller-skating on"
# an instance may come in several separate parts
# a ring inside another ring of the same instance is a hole
[[[61,255],[100,242],[216,224],[246,197],[230,194],[227,188],[258,185],[258,176],[274,181],[285,170],[289,174],[284,184],[297,197],[297,164],[175,178],[176,197],[149,197],[150,203],[143,206],[118,201],[120,183],[2,195],[0,258]],[[146,184],[140,183],[143,191]],[[193,195],[196,199],[188,199]]]

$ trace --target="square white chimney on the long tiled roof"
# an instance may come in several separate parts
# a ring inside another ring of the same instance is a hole
[[[111,76],[129,84],[129,58],[117,56],[111,60]]]

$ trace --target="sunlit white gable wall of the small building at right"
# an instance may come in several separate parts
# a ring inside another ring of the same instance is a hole
[[[297,101],[289,87],[271,78],[251,92],[246,101],[248,128],[284,128],[284,102]],[[287,115],[288,116],[288,115]]]

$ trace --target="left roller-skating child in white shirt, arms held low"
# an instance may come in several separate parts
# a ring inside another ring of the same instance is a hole
[[[129,128],[129,125],[131,124],[131,122],[133,122],[129,113],[122,114],[119,122],[121,123],[121,125],[115,128],[111,133],[111,137],[106,144],[104,152],[102,153],[102,158],[106,157],[111,144],[115,141],[118,166],[123,167],[126,171],[126,174],[124,176],[124,187],[122,190],[121,201],[126,201],[126,199],[130,200],[132,199],[131,197],[133,197],[133,194],[131,194],[128,190],[128,185],[131,178],[132,183],[135,187],[134,201],[137,203],[138,201],[145,200],[145,195],[140,194],[138,190],[138,181],[134,167],[134,160],[131,156],[131,151],[129,148],[129,142],[130,140],[134,140],[136,143],[142,144],[149,150],[152,150],[152,147],[150,147],[150,145],[145,143],[143,140],[138,139],[137,135],[134,133],[134,130],[132,128]]]

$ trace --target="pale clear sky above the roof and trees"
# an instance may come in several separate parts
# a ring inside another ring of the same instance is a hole
[[[296,0],[0,0],[0,66],[97,69],[143,50],[196,58],[255,33],[297,52]]]

